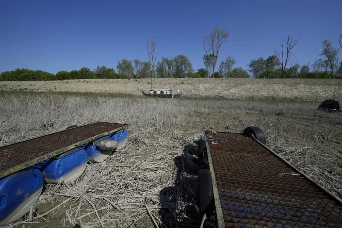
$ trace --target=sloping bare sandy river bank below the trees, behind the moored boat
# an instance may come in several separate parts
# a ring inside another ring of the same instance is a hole
[[[0,90],[124,93],[142,96],[150,79],[94,79],[64,81],[0,81]],[[169,88],[170,80],[153,79],[153,88]],[[342,80],[331,79],[174,79],[173,89],[185,96],[222,98],[280,98],[322,101],[342,99]],[[139,90],[138,90],[139,89]]]

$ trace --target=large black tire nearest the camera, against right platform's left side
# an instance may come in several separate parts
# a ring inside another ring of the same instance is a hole
[[[213,210],[212,177],[208,169],[198,171],[199,182],[199,213]]]

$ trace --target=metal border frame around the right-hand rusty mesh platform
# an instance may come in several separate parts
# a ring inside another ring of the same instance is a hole
[[[221,133],[232,133],[232,134],[242,134],[242,133],[237,133],[237,132],[224,132],[224,131],[217,131],[217,132],[221,132]],[[210,169],[210,174],[211,174],[211,178],[212,178],[212,192],[213,192],[213,197],[214,197],[214,203],[215,203],[215,219],[216,219],[216,226],[218,228],[225,228],[225,222],[224,222],[224,218],[223,218],[223,212],[221,209],[221,203],[220,203],[220,197],[219,197],[219,192],[218,192],[218,188],[217,188],[217,183],[216,183],[216,178],[215,178],[215,173],[214,173],[214,169],[213,169],[213,163],[212,163],[212,155],[210,152],[210,147],[208,144],[208,140],[207,140],[207,136],[206,136],[206,132],[204,131],[203,133],[205,142],[206,142],[206,148],[205,150],[207,151],[207,155],[208,155],[208,163],[209,163],[209,169]],[[330,192],[328,189],[322,187],[319,183],[317,183],[317,181],[315,181],[314,179],[310,178],[307,174],[305,174],[302,170],[298,169],[297,167],[295,167],[293,164],[287,162],[286,160],[284,160],[283,158],[281,158],[277,153],[275,153],[272,149],[266,147],[264,144],[262,144],[259,140],[255,139],[252,137],[252,139],[254,141],[256,141],[261,147],[264,147],[265,149],[267,149],[268,151],[270,151],[272,154],[274,154],[275,156],[277,156],[277,158],[279,158],[281,161],[283,161],[284,163],[286,163],[287,165],[291,166],[291,168],[293,168],[294,170],[296,170],[299,174],[303,175],[305,178],[309,179],[309,181],[313,182],[316,186],[318,186],[321,190],[323,190],[325,193],[327,193],[328,195],[332,196],[334,199],[336,199],[336,201],[342,203],[342,199],[339,198],[337,195],[335,195],[334,193]]]

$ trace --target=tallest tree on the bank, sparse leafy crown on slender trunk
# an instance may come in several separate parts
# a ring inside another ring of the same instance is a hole
[[[215,66],[217,62],[218,53],[222,44],[228,37],[227,30],[219,30],[218,28],[214,28],[212,32],[209,34],[209,37],[203,37],[203,48],[207,56],[213,55],[213,64],[212,64],[212,75],[215,73]]]

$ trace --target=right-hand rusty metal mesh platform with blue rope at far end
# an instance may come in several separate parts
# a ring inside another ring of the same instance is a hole
[[[205,134],[218,227],[342,227],[341,199],[259,141]]]

